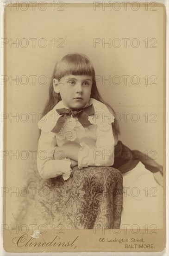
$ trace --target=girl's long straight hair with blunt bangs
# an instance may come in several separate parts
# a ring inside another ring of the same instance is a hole
[[[94,98],[95,100],[104,103],[115,117],[115,112],[113,108],[102,99],[97,89],[95,81],[95,71],[91,61],[88,59],[86,55],[76,53],[67,54],[56,63],[50,83],[49,99],[43,111],[44,115],[46,115],[52,108],[54,108],[54,106],[59,101],[62,100],[60,94],[57,94],[53,89],[53,79],[56,78],[58,81],[61,81],[65,75],[69,74],[92,76],[91,98]],[[120,134],[120,131],[116,118],[115,121],[112,123],[112,128],[113,135],[117,138]]]

